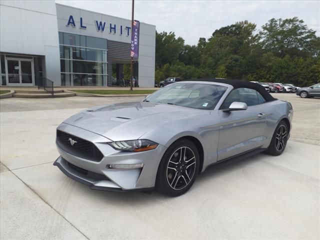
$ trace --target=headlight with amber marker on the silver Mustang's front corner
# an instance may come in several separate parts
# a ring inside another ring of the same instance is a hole
[[[129,140],[129,141],[112,141],[107,142],[116,150],[120,151],[148,151],[158,146],[158,143],[147,139]]]

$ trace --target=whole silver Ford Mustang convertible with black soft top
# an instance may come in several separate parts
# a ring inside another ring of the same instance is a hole
[[[156,188],[177,196],[211,164],[281,154],[292,111],[257,83],[180,81],[140,102],[96,106],[64,120],[54,165],[92,189]]]

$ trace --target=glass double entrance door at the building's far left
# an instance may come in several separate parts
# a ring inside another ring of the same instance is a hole
[[[33,86],[32,59],[6,58],[8,86]]]

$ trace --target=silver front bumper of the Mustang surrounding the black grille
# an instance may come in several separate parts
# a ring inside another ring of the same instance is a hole
[[[100,161],[84,159],[67,152],[56,142],[60,156],[53,165],[58,166],[70,178],[99,190],[142,191],[154,187],[157,168],[166,150],[165,146],[159,144],[155,149],[144,152],[118,151],[105,143],[109,141],[107,138],[82,128],[62,123],[57,129],[92,142],[103,154]],[[143,164],[143,166],[119,169],[110,168],[110,164]]]

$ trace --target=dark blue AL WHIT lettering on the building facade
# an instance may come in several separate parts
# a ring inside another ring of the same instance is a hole
[[[107,26],[107,22],[105,21],[97,21],[97,20],[94,20],[94,24],[95,24],[95,27],[96,27],[96,30],[97,31],[101,31],[101,32],[104,32],[104,29],[106,29],[106,26]],[[109,33],[117,33],[116,32],[116,24],[112,24],[110,22],[108,22],[109,24]],[[74,18],[72,15],[69,16],[68,18],[68,21],[66,23],[66,26],[72,26],[72,27],[76,27],[75,25],[75,21],[74,21]],[[81,29],[86,29],[86,26],[83,24],[83,19],[82,17],[80,17],[80,26],[79,28]],[[120,25],[120,32],[119,35],[122,35],[122,34],[126,34],[126,36],[129,36],[130,35],[130,29],[131,27],[130,26],[122,26]]]

